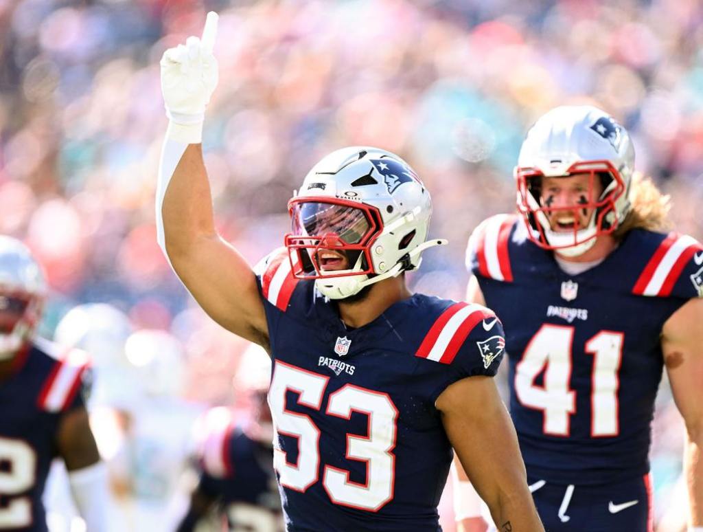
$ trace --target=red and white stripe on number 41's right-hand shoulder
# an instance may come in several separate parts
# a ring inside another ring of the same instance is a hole
[[[632,289],[633,293],[638,296],[669,296],[686,263],[702,249],[691,236],[669,233],[647,262]]]

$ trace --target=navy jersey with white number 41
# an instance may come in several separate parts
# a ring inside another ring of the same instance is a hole
[[[649,470],[659,335],[701,295],[702,250],[690,236],[636,229],[570,275],[517,217],[476,229],[467,265],[505,327],[510,413],[531,476],[605,483]]]

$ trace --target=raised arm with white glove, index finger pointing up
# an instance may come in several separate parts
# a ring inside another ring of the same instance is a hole
[[[217,14],[210,12],[202,39],[189,37],[185,45],[167,50],[161,60],[169,127],[159,165],[157,238],[176,274],[212,319],[268,347],[254,272],[217,234],[202,159],[205,107],[218,80],[212,53],[216,34]]]

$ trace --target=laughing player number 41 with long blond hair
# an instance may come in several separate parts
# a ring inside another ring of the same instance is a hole
[[[668,198],[634,163],[607,113],[550,110],[522,144],[520,214],[489,218],[469,241],[467,299],[505,326],[510,414],[550,531],[652,530],[664,367],[688,430],[690,526],[703,531],[703,246],[663,232]],[[470,500],[457,514],[475,516]]]

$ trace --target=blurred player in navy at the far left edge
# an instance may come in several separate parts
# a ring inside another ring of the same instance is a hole
[[[103,531],[107,474],[84,405],[88,360],[34,337],[45,297],[30,251],[0,236],[0,530],[47,530],[41,495],[60,457],[87,529]]]

